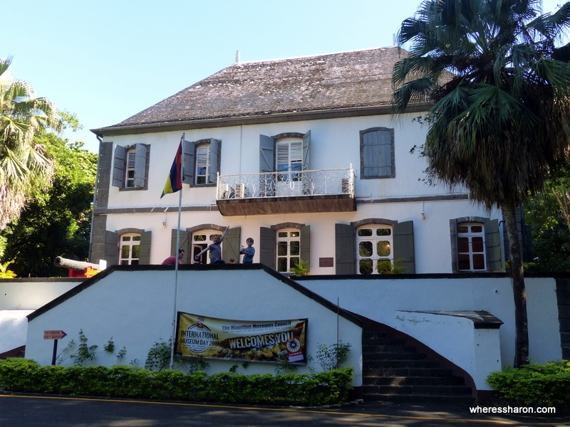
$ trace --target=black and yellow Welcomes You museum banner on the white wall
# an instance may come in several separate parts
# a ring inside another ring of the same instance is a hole
[[[227,320],[178,312],[182,357],[306,364],[307,319]]]

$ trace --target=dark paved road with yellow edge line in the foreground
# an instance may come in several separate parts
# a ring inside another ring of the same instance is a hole
[[[570,417],[490,416],[471,414],[468,408],[427,404],[303,409],[0,394],[0,426],[570,426]]]

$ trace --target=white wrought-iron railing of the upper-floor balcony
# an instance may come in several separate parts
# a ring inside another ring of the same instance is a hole
[[[218,175],[217,199],[354,195],[354,171],[316,169],[296,172]]]

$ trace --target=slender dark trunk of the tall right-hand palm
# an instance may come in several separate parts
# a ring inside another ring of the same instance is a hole
[[[516,206],[503,206],[504,223],[509,237],[512,277],[512,292],[514,296],[514,368],[522,367],[529,363],[529,326],[527,321],[527,288],[524,286],[524,273],[522,270],[521,246],[519,244],[519,232],[517,231],[517,219],[515,217]]]

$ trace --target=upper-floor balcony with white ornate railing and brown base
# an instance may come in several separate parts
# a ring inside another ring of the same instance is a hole
[[[226,216],[356,211],[354,171],[218,175],[216,201]]]

